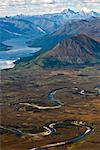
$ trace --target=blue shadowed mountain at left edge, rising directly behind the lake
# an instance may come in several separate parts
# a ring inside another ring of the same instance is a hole
[[[36,37],[44,36],[46,32],[27,20],[1,18],[0,34],[2,36],[2,38],[0,38],[0,41],[5,41],[7,39],[16,37],[31,37],[32,39],[34,39]]]

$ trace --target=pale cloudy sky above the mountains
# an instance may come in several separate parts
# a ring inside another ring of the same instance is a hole
[[[39,15],[67,8],[100,12],[100,0],[0,0],[0,16]]]

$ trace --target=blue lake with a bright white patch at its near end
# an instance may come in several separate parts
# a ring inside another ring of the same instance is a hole
[[[0,51],[0,70],[13,68],[14,62],[22,57],[32,56],[41,48],[30,48],[26,44],[26,39],[16,38],[3,42],[8,46],[12,46],[11,50]]]

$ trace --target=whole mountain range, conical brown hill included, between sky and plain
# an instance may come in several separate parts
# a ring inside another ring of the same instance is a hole
[[[41,47],[31,60],[20,59],[22,63],[28,61],[28,66],[35,63],[48,68],[100,62],[100,13],[94,11],[68,9],[56,14],[4,17],[0,18],[0,33],[2,47],[4,41],[20,37],[26,39],[29,47]]]

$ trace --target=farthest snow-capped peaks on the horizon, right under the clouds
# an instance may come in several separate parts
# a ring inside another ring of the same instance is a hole
[[[18,18],[22,16],[17,16]],[[55,29],[59,28],[59,26],[68,22],[69,20],[75,19],[88,19],[90,17],[100,17],[100,13],[90,11],[88,13],[84,11],[73,11],[71,9],[65,9],[61,13],[54,14],[44,14],[37,16],[23,16],[25,20],[29,20],[33,22],[35,25],[41,26],[44,30],[48,31],[48,33],[54,32]]]

